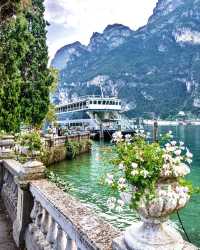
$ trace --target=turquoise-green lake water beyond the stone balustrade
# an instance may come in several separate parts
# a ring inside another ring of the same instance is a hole
[[[148,128],[151,131],[151,128]],[[194,154],[192,171],[188,179],[194,185],[200,186],[200,127],[179,126],[162,127],[159,133],[173,131],[175,139],[184,141]],[[93,208],[114,226],[125,229],[138,219],[135,212],[128,207],[122,212],[109,211],[106,201],[112,191],[101,185],[102,176],[111,168],[112,146],[103,143],[93,143],[92,153],[85,154],[73,161],[64,161],[51,167],[61,178],[69,181],[73,188],[72,195]],[[180,211],[184,227],[192,243],[200,247],[200,195],[194,195],[186,208]],[[180,228],[176,215],[172,216],[174,226]]]

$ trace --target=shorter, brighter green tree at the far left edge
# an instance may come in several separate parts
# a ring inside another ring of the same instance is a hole
[[[26,19],[19,15],[0,26],[0,129],[7,132],[20,128],[20,66],[32,36]]]

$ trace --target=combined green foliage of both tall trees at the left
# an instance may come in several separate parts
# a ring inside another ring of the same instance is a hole
[[[21,6],[29,0],[14,2],[22,4],[21,13],[0,26],[0,129],[7,132],[19,131],[22,122],[42,124],[56,81],[56,72],[47,67],[43,0],[33,0],[26,9]]]

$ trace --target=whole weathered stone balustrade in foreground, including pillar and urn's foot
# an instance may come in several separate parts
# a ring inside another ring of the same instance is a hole
[[[37,161],[23,165],[14,160],[0,162],[1,196],[13,223],[13,238],[20,249],[174,250],[173,244],[163,248],[162,237],[157,237],[157,228],[163,230],[166,226],[162,229],[147,221],[147,226],[140,223],[139,234],[134,233],[138,224],[121,234],[91,209],[44,179],[44,171],[43,164]],[[178,235],[175,230],[172,232],[175,237]],[[178,239],[178,249],[198,249]]]

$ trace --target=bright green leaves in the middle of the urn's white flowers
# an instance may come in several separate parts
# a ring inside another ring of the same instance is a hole
[[[137,202],[140,201],[147,189],[149,192],[146,195],[148,198],[153,198],[156,183],[163,166],[163,150],[160,145],[158,143],[150,144],[144,138],[137,137],[133,143],[119,143],[115,150],[117,155],[113,161],[116,165],[115,170],[118,171],[119,164],[123,162],[126,166],[125,178],[127,182],[138,190],[135,193],[132,205],[137,205]],[[148,172],[148,176],[144,177],[142,174],[133,175],[132,163],[137,164],[139,169],[137,171]],[[115,185],[116,183],[114,183],[114,188]]]

